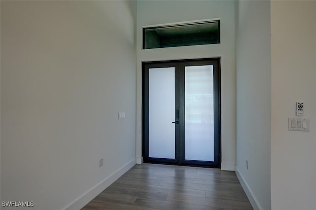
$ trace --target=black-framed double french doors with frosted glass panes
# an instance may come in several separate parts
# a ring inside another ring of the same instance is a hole
[[[219,167],[219,58],[143,63],[143,161]]]

